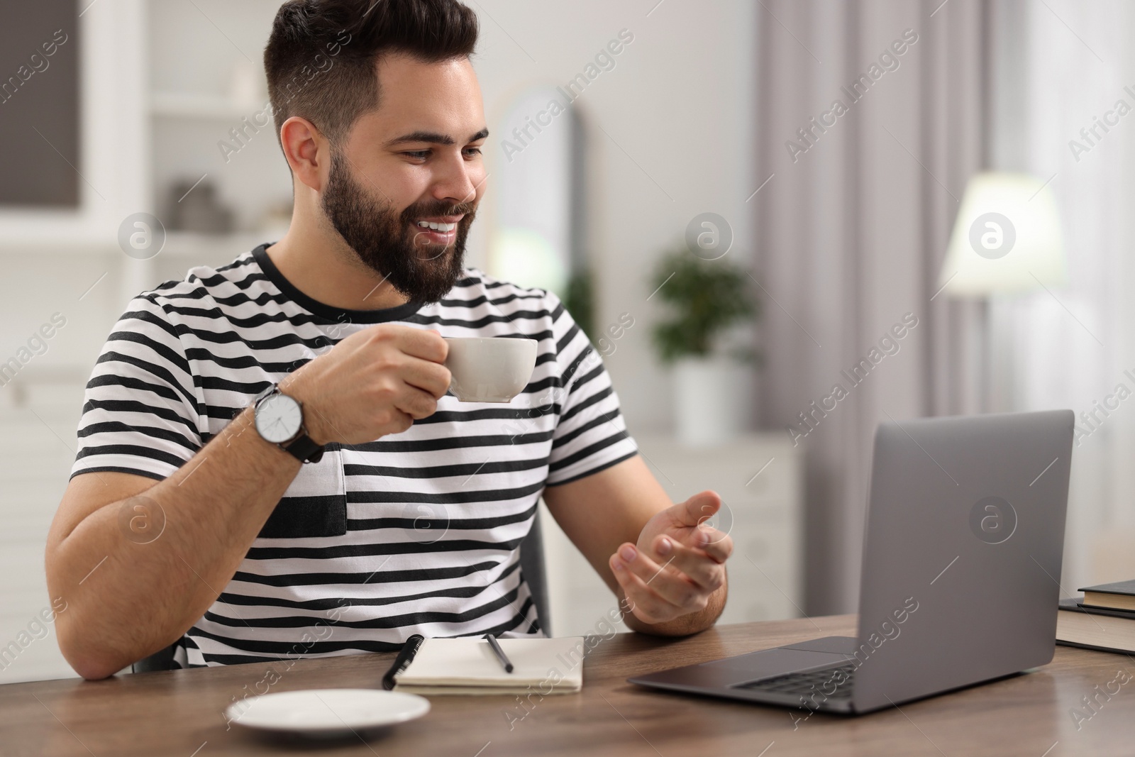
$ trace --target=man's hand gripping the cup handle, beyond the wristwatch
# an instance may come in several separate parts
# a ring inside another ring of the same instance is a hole
[[[362,444],[432,415],[449,388],[437,331],[380,323],[346,337],[283,381],[317,444]]]

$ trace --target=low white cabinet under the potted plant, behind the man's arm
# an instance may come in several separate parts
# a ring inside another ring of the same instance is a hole
[[[729,603],[720,623],[798,617],[801,607],[804,457],[782,434],[754,434],[715,447],[637,437],[642,457],[671,499],[713,489],[724,503],[712,521],[734,541]],[[596,632],[616,606],[606,584],[545,511],[552,632]],[[621,629],[622,630],[622,629]]]

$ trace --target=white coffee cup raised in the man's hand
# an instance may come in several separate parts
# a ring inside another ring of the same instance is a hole
[[[510,402],[536,368],[536,339],[446,337],[449,392],[461,402]]]

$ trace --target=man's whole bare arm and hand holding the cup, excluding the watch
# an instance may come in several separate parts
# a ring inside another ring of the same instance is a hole
[[[317,443],[372,441],[437,409],[449,386],[447,351],[436,331],[379,325],[293,371],[280,388],[303,403]],[[47,578],[51,596],[67,603],[56,633],[79,675],[106,678],[168,647],[217,600],[213,587],[233,579],[300,469],[245,434],[252,424],[245,410],[157,483],[115,472],[70,480],[48,535]],[[121,513],[138,495],[166,518],[149,546],[123,530]]]

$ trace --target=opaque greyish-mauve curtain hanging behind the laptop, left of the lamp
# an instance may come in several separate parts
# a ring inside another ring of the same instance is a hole
[[[985,404],[987,313],[938,294],[938,278],[966,180],[989,161],[991,12],[757,12],[757,407],[806,448],[805,609],[851,612],[875,426]]]

